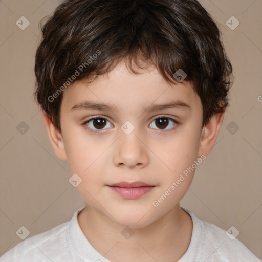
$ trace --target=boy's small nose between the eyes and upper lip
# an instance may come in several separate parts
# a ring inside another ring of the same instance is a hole
[[[145,139],[135,128],[129,135],[119,130],[119,139],[115,143],[113,161],[116,166],[143,168],[148,165],[148,148]]]

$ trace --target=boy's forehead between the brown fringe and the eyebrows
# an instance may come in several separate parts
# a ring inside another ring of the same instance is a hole
[[[190,107],[199,106],[200,98],[195,94],[192,83],[168,83],[155,67],[140,70],[140,74],[130,71],[121,62],[108,74],[98,76],[93,82],[84,80],[73,82],[63,91],[61,110],[70,111],[76,104],[86,100],[110,103],[119,110],[150,106],[178,100]]]

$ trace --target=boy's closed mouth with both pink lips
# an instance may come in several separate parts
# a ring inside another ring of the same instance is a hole
[[[142,197],[142,195],[150,192],[153,188],[156,187],[154,185],[149,185],[141,181],[131,183],[123,181],[107,186],[125,199],[138,199]]]

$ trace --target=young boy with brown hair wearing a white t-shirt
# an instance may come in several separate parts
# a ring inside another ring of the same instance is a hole
[[[42,34],[35,97],[86,206],[0,261],[260,261],[180,207],[232,84],[199,2],[68,0]]]

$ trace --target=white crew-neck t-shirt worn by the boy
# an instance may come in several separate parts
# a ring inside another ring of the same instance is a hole
[[[26,238],[0,257],[0,262],[110,262],[88,242],[77,220],[78,209],[70,222]],[[237,238],[230,239],[226,231],[198,219],[183,208],[193,221],[191,241],[178,262],[260,262]]]

